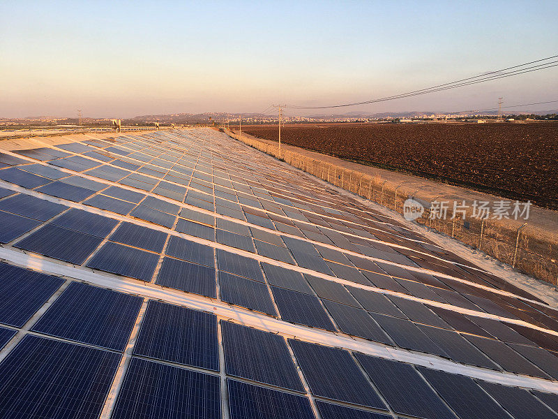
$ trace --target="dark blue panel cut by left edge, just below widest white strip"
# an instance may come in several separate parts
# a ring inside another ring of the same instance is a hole
[[[64,280],[0,263],[0,323],[21,328]]]

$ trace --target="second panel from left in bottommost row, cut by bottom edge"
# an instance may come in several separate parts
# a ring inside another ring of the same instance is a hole
[[[112,419],[220,419],[219,376],[132,357]]]

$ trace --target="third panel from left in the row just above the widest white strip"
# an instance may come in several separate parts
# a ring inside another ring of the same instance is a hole
[[[149,282],[159,261],[159,255],[133,247],[107,242],[87,266],[113,274]]]

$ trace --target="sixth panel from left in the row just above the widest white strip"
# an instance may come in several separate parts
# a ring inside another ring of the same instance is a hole
[[[324,307],[315,295],[297,293],[285,288],[271,287],[281,318],[292,323],[335,330]]]

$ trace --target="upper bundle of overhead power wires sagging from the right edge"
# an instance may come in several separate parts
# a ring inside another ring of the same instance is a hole
[[[370,101],[361,101],[361,102],[356,102],[356,103],[345,103],[345,104],[342,104],[342,105],[330,105],[330,106],[287,105],[286,108],[292,108],[292,109],[342,108],[342,107],[347,107],[347,106],[365,105],[365,104],[369,104],[369,103],[391,101],[391,100],[398,99],[398,98],[407,98],[407,97],[411,97],[411,96],[419,96],[419,95],[422,95],[422,94],[433,93],[435,91],[455,89],[456,87],[469,86],[470,84],[477,84],[477,83],[481,83],[481,82],[487,82],[487,81],[490,81],[490,80],[497,80],[497,79],[500,79],[500,78],[511,77],[513,75],[519,75],[519,74],[523,74],[523,73],[530,73],[531,71],[540,71],[540,70],[544,70],[545,68],[555,67],[555,66],[558,66],[558,64],[556,64],[556,63],[558,63],[558,60],[555,60],[555,61],[549,61],[549,60],[550,59],[555,59],[557,57],[558,57],[558,55],[554,55],[552,57],[546,57],[546,58],[543,58],[543,59],[538,59],[536,61],[530,61],[530,62],[525,63],[525,64],[519,64],[517,66],[502,68],[502,70],[490,71],[489,73],[484,73],[482,75],[476,75],[476,76],[470,77],[470,78],[455,80],[454,82],[448,82],[448,83],[444,83],[444,84],[437,84],[436,86],[432,86],[432,87],[428,87],[428,88],[420,89],[420,90],[409,91],[409,92],[403,93],[403,94],[398,94],[398,95],[393,95],[393,96],[386,96],[384,98],[372,99]],[[531,64],[540,63],[542,61],[546,61],[546,62],[544,62],[542,64],[537,64],[537,65],[534,65],[534,66],[530,66]],[[526,67],[526,66],[529,66],[529,67]],[[513,69],[513,68],[516,68],[516,69],[513,70],[513,71],[508,71],[508,70]],[[507,73],[506,73],[506,71],[507,71]]]

